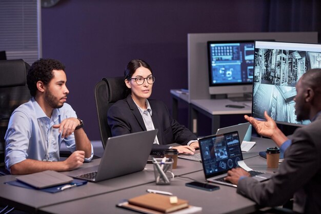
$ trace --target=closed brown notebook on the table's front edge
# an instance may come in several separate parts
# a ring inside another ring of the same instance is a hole
[[[188,207],[188,201],[178,199],[177,203],[170,203],[170,196],[163,194],[147,193],[128,200],[129,204],[145,207],[163,213],[173,212]]]

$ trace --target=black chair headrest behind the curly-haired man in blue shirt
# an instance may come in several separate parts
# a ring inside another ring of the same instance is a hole
[[[0,60],[0,87],[26,85],[26,73],[23,60]]]

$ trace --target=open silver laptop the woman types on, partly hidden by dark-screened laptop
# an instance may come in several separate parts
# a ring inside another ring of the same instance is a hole
[[[228,133],[228,132],[232,132],[232,131],[238,131],[238,137],[239,137],[240,142],[242,143],[242,141],[244,140],[244,137],[246,135],[246,132],[249,129],[249,126],[250,126],[250,123],[241,123],[241,124],[237,124],[237,125],[233,125],[233,126],[219,128],[219,129],[217,129],[216,134],[224,134],[224,133]],[[205,138],[208,138],[210,136],[213,136],[213,135],[209,135]],[[202,162],[202,159],[200,158],[199,150],[196,150],[194,152],[194,154],[179,154],[178,158],[187,159],[190,161]]]

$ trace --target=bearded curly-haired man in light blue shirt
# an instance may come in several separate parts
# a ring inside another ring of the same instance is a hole
[[[90,161],[93,147],[67,101],[65,66],[59,61],[34,62],[27,76],[32,98],[16,108],[5,135],[6,168],[12,174],[44,170],[67,171]],[[59,148],[65,143],[72,152],[59,161]]]

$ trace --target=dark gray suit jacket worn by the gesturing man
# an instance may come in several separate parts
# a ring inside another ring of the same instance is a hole
[[[282,205],[294,197],[294,211],[321,213],[321,114],[297,128],[291,140],[283,163],[270,180],[241,179],[237,192],[262,206]]]

